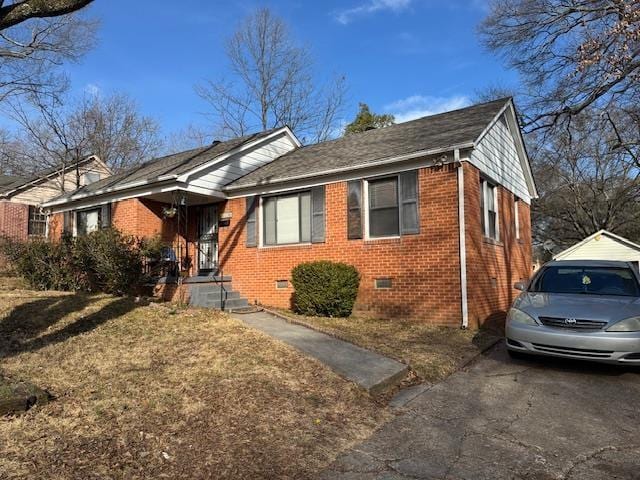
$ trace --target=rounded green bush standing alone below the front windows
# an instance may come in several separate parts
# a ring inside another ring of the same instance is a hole
[[[358,295],[360,274],[352,265],[301,263],[291,272],[293,308],[302,315],[348,317]]]

